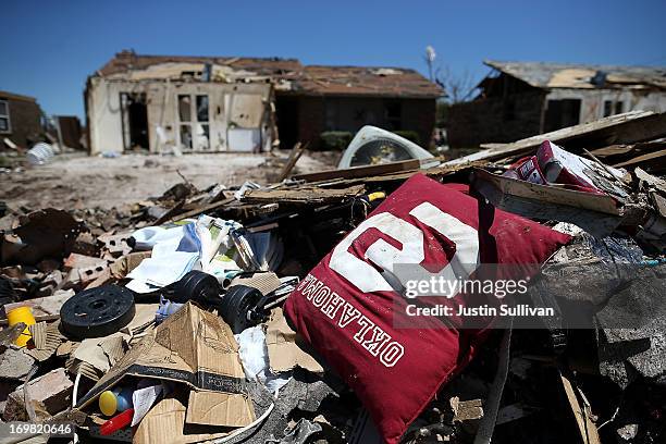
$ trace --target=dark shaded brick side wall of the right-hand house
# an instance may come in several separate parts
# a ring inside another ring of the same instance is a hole
[[[533,91],[456,103],[448,114],[448,144],[472,148],[539,134],[544,97],[543,91]]]

